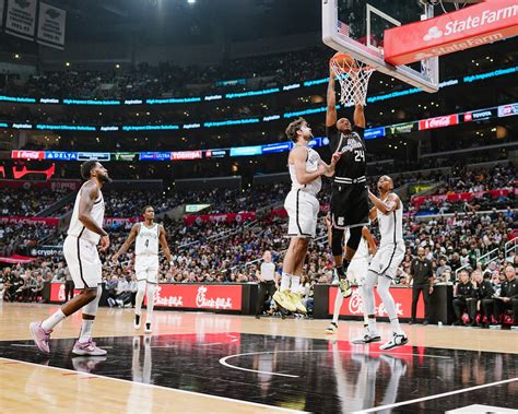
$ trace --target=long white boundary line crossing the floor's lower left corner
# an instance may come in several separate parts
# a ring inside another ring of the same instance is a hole
[[[1,359],[9,360],[9,362],[13,362],[13,363],[19,363],[19,364],[34,365],[34,366],[39,367],[39,368],[58,369],[58,370],[61,370],[61,371],[76,372],[76,374],[79,374],[79,375],[85,375],[85,376],[89,376],[89,377],[103,378],[103,379],[107,379],[107,380],[125,382],[126,385],[129,385],[129,386],[131,386],[131,385],[138,385],[138,386],[143,386],[143,387],[152,388],[152,389],[153,389],[153,388],[160,388],[160,389],[163,389],[163,390],[176,391],[176,392],[180,392],[180,393],[184,393],[184,394],[193,395],[193,397],[197,397],[197,398],[203,398],[203,397],[205,397],[205,398],[208,398],[208,399],[216,399],[216,400],[221,400],[221,401],[227,401],[227,402],[231,402],[231,403],[243,403],[243,404],[246,404],[246,405],[257,406],[257,407],[263,409],[263,410],[279,410],[279,411],[282,411],[282,412],[285,412],[285,413],[293,413],[293,414],[309,414],[309,413],[306,412],[306,411],[290,410],[290,409],[284,409],[284,407],[282,407],[282,406],[260,404],[260,403],[258,403],[258,402],[244,401],[244,400],[236,400],[236,399],[231,399],[231,398],[227,398],[227,397],[212,395],[212,394],[205,394],[205,393],[202,393],[202,392],[195,392],[195,391],[187,391],[187,390],[179,390],[179,389],[177,389],[177,388],[168,388],[168,387],[164,387],[164,386],[155,386],[155,385],[153,385],[153,383],[144,383],[144,382],[137,382],[137,381],[129,381],[129,380],[127,380],[127,379],[111,378],[111,377],[106,377],[106,376],[102,376],[102,375],[98,375],[98,374],[80,372],[80,371],[75,371],[75,370],[73,370],[73,369],[67,369],[67,368],[60,368],[60,367],[46,366],[46,365],[36,364],[36,363],[28,363],[28,362],[25,362],[25,360],[17,360],[17,359],[5,358],[5,357],[3,357],[3,356],[0,357],[0,360],[1,360]]]

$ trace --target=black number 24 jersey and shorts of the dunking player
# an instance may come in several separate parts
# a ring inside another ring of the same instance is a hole
[[[351,133],[328,127],[331,153],[342,153],[334,168],[331,194],[331,222],[334,228],[365,226],[368,220],[366,185],[365,128],[354,127]]]

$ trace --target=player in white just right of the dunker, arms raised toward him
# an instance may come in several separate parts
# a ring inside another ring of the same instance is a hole
[[[398,265],[404,258],[403,240],[403,203],[393,190],[393,181],[388,176],[382,176],[378,180],[379,199],[368,191],[368,197],[374,203],[370,210],[370,220],[377,220],[381,240],[379,249],[368,268],[365,281],[365,310],[368,316],[368,329],[364,335],[365,341],[369,341],[369,335],[376,332],[376,316],[374,314],[374,285],[378,283],[378,294],[384,303],[385,310],[392,327],[392,339],[380,346],[380,350],[391,350],[396,346],[404,345],[409,342],[407,335],[399,324],[396,305],[390,294],[390,283],[396,276]]]

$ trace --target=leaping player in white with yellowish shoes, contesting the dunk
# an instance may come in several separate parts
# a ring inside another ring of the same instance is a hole
[[[287,157],[292,190],[284,202],[289,215],[287,236],[291,237],[282,264],[281,288],[273,299],[282,308],[305,314],[306,308],[298,296],[309,239],[317,230],[320,204],[317,194],[322,186],[320,176],[331,177],[340,157],[333,154],[331,164],[320,159],[320,155],[308,146],[313,139],[311,129],[304,118],[298,118],[286,128],[286,135],[294,142]]]

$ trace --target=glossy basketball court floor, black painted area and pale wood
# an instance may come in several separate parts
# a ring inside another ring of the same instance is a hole
[[[131,309],[101,308],[94,327],[106,357],[74,357],[80,315],[59,326],[51,354],[28,323],[55,305],[2,304],[2,412],[445,412],[473,404],[516,409],[515,331],[404,326],[410,344],[353,345],[360,322],[155,312],[136,333]],[[390,326],[380,323],[382,338]],[[481,411],[470,411],[472,413]],[[486,411],[484,411],[486,412]],[[515,411],[516,412],[516,411]]]

